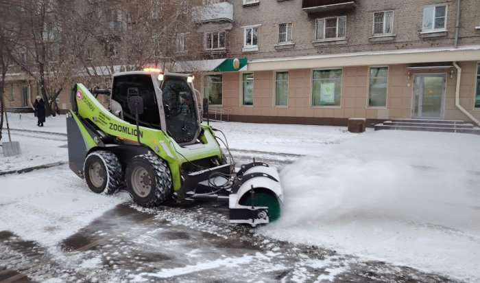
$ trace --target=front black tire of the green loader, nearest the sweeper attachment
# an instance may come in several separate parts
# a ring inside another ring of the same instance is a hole
[[[153,207],[171,195],[171,173],[167,163],[153,155],[139,155],[125,170],[128,192],[135,203]]]

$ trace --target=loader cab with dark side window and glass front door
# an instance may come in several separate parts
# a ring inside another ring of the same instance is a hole
[[[193,85],[180,73],[132,71],[113,76],[110,111],[135,124],[128,108],[129,89],[138,89],[143,98],[140,126],[166,131],[178,144],[193,144],[200,134],[200,117]]]

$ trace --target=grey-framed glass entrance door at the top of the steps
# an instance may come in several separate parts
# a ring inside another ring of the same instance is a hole
[[[445,75],[413,77],[413,118],[442,119],[445,80]]]

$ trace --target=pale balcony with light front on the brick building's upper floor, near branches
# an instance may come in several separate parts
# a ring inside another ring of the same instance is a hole
[[[208,23],[213,21],[233,21],[233,5],[228,2],[202,5],[193,9],[193,21]]]

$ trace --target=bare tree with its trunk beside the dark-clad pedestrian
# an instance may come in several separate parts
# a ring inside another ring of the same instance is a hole
[[[69,49],[72,0],[18,0],[16,27],[20,38],[12,59],[40,88],[51,113],[65,83],[71,80],[75,56]]]

